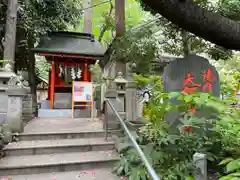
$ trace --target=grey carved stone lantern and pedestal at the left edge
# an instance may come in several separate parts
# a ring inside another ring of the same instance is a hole
[[[0,125],[7,124],[12,132],[23,131],[23,98],[28,92],[24,78],[10,64],[0,68]]]

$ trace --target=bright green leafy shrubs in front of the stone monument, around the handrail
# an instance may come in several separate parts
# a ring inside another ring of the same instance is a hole
[[[180,103],[172,104],[172,98]],[[206,153],[208,160],[213,163],[222,160],[226,152],[233,158],[239,158],[240,112],[231,106],[235,101],[219,100],[208,93],[154,93],[149,103],[148,124],[140,128],[137,140],[161,179],[191,179],[194,170],[192,157],[195,152]],[[198,116],[190,108],[196,108],[197,112],[203,114]],[[180,113],[179,125],[174,133],[163,120],[166,113],[172,110]],[[217,118],[205,116],[204,113],[215,114]],[[192,132],[186,127],[191,127]],[[115,168],[119,174],[139,180],[149,179],[146,168],[134,149],[128,150],[122,157],[121,163]],[[234,165],[230,164],[226,168],[227,173],[238,173],[237,161],[234,160]],[[141,173],[135,174],[136,168]],[[237,176],[232,174],[234,175]]]

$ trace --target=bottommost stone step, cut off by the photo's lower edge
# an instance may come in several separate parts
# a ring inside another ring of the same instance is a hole
[[[4,176],[1,179],[11,180],[120,180],[121,177],[111,173],[110,168],[92,169],[91,171],[70,171],[32,175]]]

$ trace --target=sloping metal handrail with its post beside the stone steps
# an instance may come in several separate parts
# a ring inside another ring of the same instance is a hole
[[[117,110],[114,108],[113,104],[110,102],[109,99],[105,100],[105,115],[108,115],[107,113],[107,106],[109,106],[111,108],[111,110],[113,111],[114,115],[117,117],[118,121],[120,122],[123,130],[126,132],[127,136],[129,137],[129,139],[131,140],[133,147],[135,148],[135,150],[137,151],[141,161],[144,163],[144,165],[147,168],[147,171],[149,173],[149,175],[151,176],[151,178],[153,180],[160,180],[160,178],[158,177],[157,173],[155,172],[155,170],[153,169],[153,167],[151,166],[151,164],[148,162],[146,156],[144,155],[142,149],[140,148],[140,146],[138,145],[138,143],[136,142],[135,138],[132,136],[132,134],[130,133],[128,127],[126,126],[124,120],[120,117],[119,113],[117,112]],[[108,118],[105,118],[105,140],[107,140],[108,137]]]

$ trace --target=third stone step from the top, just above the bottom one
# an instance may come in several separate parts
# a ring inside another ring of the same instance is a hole
[[[6,156],[0,160],[0,176],[86,171],[113,167],[118,160],[119,156],[115,150]]]

